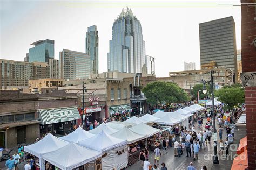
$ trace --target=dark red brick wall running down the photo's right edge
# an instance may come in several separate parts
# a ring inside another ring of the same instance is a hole
[[[241,0],[241,3],[256,3]],[[247,145],[249,169],[256,168],[256,6],[241,6],[242,76],[254,73],[245,87]],[[241,76],[241,78],[243,78]],[[252,75],[251,75],[252,76]]]

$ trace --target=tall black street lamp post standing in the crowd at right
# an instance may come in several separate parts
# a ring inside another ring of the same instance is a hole
[[[214,88],[213,88],[213,73],[214,71],[211,71],[211,80],[210,81],[205,81],[202,80],[202,82],[204,83],[203,86],[203,93],[206,94],[207,93],[207,89],[205,84],[209,84],[212,90],[212,118],[213,118],[213,133],[214,135],[217,136],[217,130],[216,130],[216,124],[215,124],[215,112],[214,112]],[[218,159],[218,154],[217,154],[217,141],[214,140],[214,155],[213,155],[213,164],[219,164],[219,159]]]

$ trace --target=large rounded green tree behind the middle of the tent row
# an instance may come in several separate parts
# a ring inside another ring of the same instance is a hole
[[[186,91],[173,82],[155,81],[148,83],[142,92],[146,95],[147,103],[156,105],[157,108],[163,102],[176,103],[189,100]]]

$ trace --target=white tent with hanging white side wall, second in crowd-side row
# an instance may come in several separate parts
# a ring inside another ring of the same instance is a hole
[[[102,169],[122,169],[128,165],[126,140],[112,137],[105,131],[89,139],[79,141],[78,144],[104,152],[103,154],[106,152],[106,155],[102,158]]]

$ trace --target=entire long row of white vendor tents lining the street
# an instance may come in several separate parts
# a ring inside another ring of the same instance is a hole
[[[39,158],[41,169],[44,169],[45,161],[61,169],[73,169],[99,158],[102,158],[102,169],[121,169],[128,164],[127,144],[160,132],[146,123],[181,123],[188,127],[188,117],[203,109],[195,104],[174,112],[159,110],[156,114],[134,116],[124,122],[102,123],[90,131],[79,127],[60,138],[48,134],[37,143],[25,146],[24,151]]]

